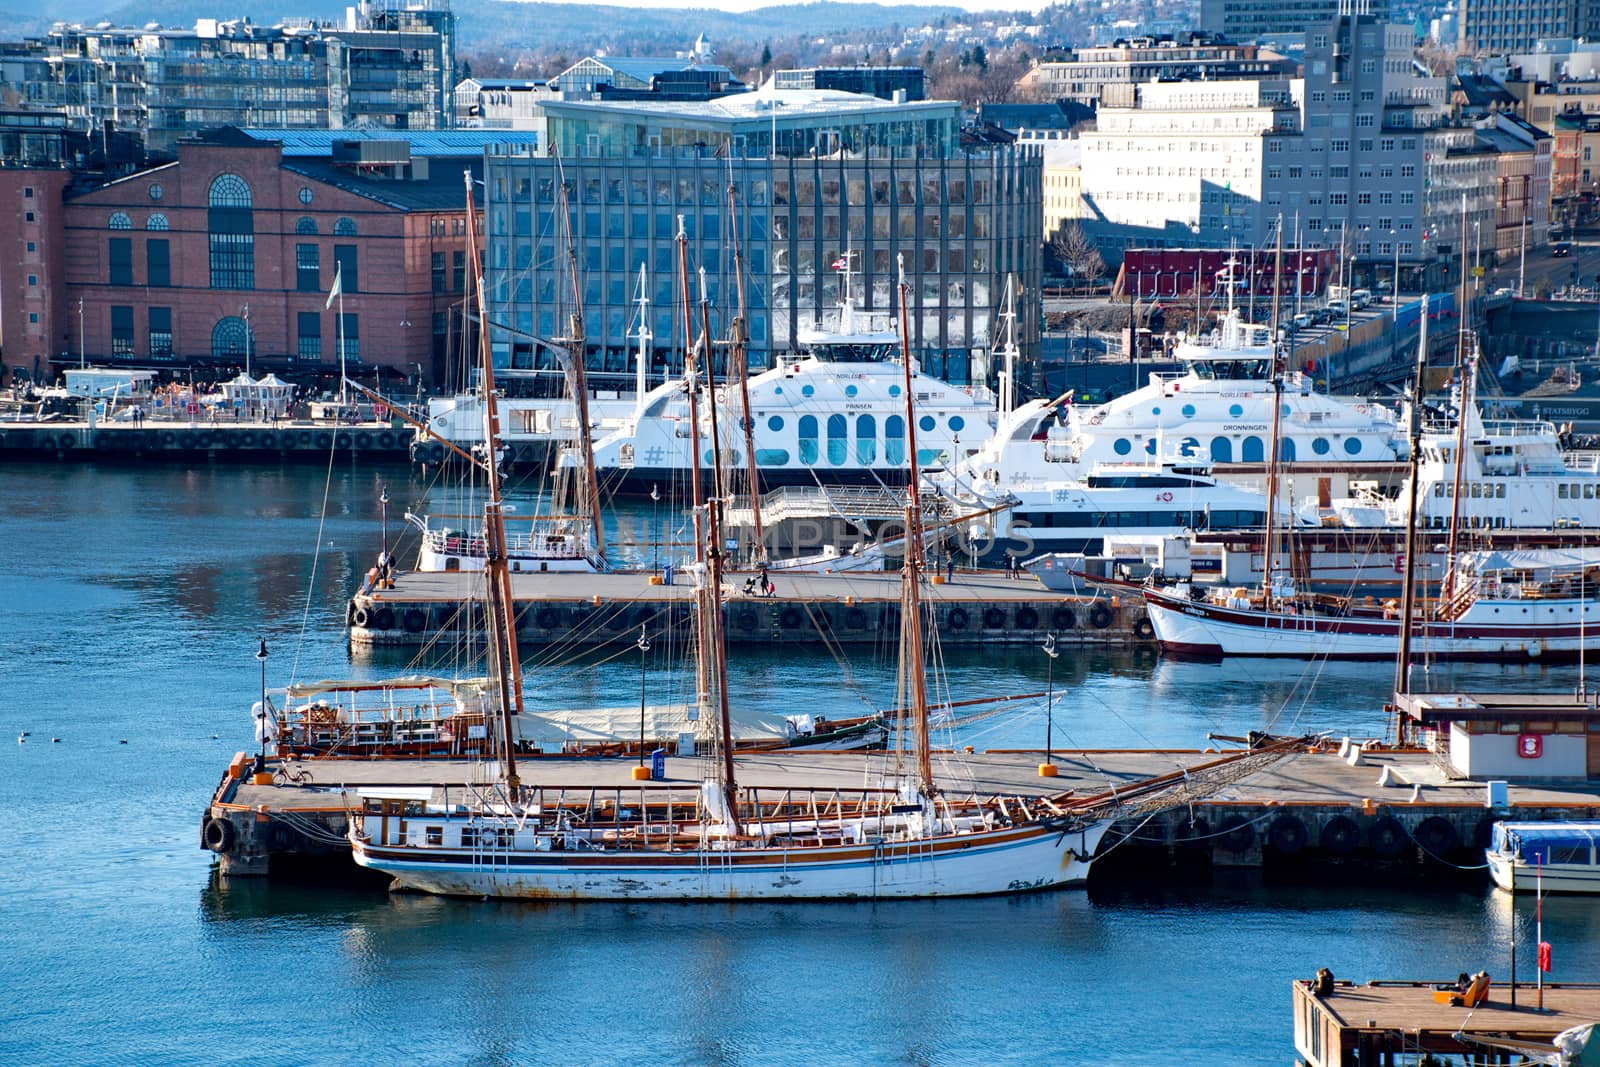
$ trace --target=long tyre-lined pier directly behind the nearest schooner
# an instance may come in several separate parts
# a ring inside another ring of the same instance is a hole
[[[1088,795],[1194,768],[1216,755],[1189,749],[1056,752],[1059,774],[1043,779],[1037,750],[944,753],[934,757],[934,773],[958,795]],[[747,752],[738,755],[738,765],[741,785],[773,792],[859,790],[894,776],[893,752]],[[611,790],[618,803],[622,792],[637,795],[640,789],[630,781],[634,766],[637,760],[626,757],[534,755],[518,761],[528,784]],[[445,789],[482,781],[480,765],[459,760],[325,758],[291,769],[304,773],[304,781],[256,785],[251,760],[240,753],[222,774],[202,817],[202,845],[221,854],[224,873],[269,875],[286,865],[349,877],[346,790],[424,789],[440,798]],[[661,787],[691,790],[702,769],[694,757],[667,757]],[[1114,827],[1101,846],[1110,856],[1096,862],[1093,877],[1114,880],[1120,870],[1136,869],[1141,883],[1158,883],[1163,870],[1294,870],[1306,864],[1336,864],[1378,881],[1419,869],[1456,877],[1454,865],[1482,862],[1496,819],[1512,813],[1520,819],[1600,817],[1600,782],[1514,784],[1504,811],[1488,808],[1485,795],[1483,782],[1446,779],[1427,752],[1371,752],[1357,765],[1334,750],[1296,753],[1210,797]],[[211,827],[213,821],[227,822],[229,830]],[[227,848],[216,848],[221,837]]]

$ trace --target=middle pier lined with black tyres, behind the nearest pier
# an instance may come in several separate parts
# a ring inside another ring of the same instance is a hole
[[[899,632],[901,576],[894,573],[773,574],[774,597],[746,595],[754,571],[725,576],[723,619],[733,645],[883,643]],[[512,574],[517,640],[530,646],[594,646],[634,640],[638,627],[688,627],[694,589],[651,585],[650,574]],[[347,608],[357,645],[424,645],[482,625],[482,573],[408,573],[394,589],[366,587]],[[947,645],[1035,645],[1046,633],[1069,645],[1154,641],[1144,601],[1080,598],[1045,589],[1024,574],[957,571],[954,582],[928,584],[923,600]],[[443,638],[440,638],[443,635]]]

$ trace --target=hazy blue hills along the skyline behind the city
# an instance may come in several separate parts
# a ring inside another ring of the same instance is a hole
[[[293,8],[282,0],[43,0],[38,13],[0,11],[0,37],[38,34],[56,19],[91,26],[194,26],[195,19],[250,18],[272,26],[285,18],[339,19],[342,0],[309,0]],[[760,43],[802,35],[834,35],[922,26],[939,18],[973,18],[955,6],[885,6],[878,3],[794,3],[758,11],[730,13],[712,8],[618,8],[590,3],[520,3],[515,0],[456,0],[461,48],[566,48],[576,56],[608,51],[643,54],[656,42],[686,48],[706,34],[715,45]]]

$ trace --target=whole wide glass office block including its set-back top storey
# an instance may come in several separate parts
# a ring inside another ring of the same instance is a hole
[[[1024,360],[1037,358],[1040,157],[1013,146],[962,150],[958,104],[763,90],[698,102],[550,101],[544,110],[555,155],[488,158],[486,285],[491,318],[509,326],[494,336],[506,363],[550,366],[538,339],[566,328],[563,179],[595,371],[632,366],[640,269],[658,366],[680,358],[680,227],[691,270],[704,269],[715,338],[736,309],[733,251],[742,250],[752,366],[770,366],[798,347],[802,330],[824,323],[846,277],[858,307],[893,315],[901,266],[912,347],[930,373],[970,381],[971,349],[997,344],[1008,274],[1022,291],[1018,342]],[[718,366],[723,352],[714,352]]]

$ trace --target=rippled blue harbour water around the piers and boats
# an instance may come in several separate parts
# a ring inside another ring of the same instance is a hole
[[[419,486],[405,469],[323,475],[0,470],[0,1062],[1286,1064],[1286,984],[1318,966],[1352,979],[1488,968],[1499,981],[1515,929],[1531,977],[1531,902],[1512,909],[1470,878],[1379,889],[1222,873],[782,907],[218,883],[198,814],[227,758],[253,744],[258,635],[269,686],[411,665],[408,653],[352,662],[344,601],[379,549],[381,488],[395,536]],[[648,528],[650,506],[622,522]],[[597,659],[541,654],[531,696],[635,701],[637,654]],[[730,665],[734,699],[765,709],[893,702],[891,648]],[[1029,693],[1045,688],[1046,659],[952,653],[942,673],[952,699]],[[1574,683],[1570,667],[1434,675]],[[646,685],[656,699],[682,694],[670,649],[653,649]],[[1053,685],[1061,745],[1200,747],[1206,731],[1381,734],[1390,672],[1069,649]],[[1024,747],[1043,734],[1035,701],[947,741]],[[1587,901],[1546,902],[1554,981],[1600,979],[1595,921]]]

